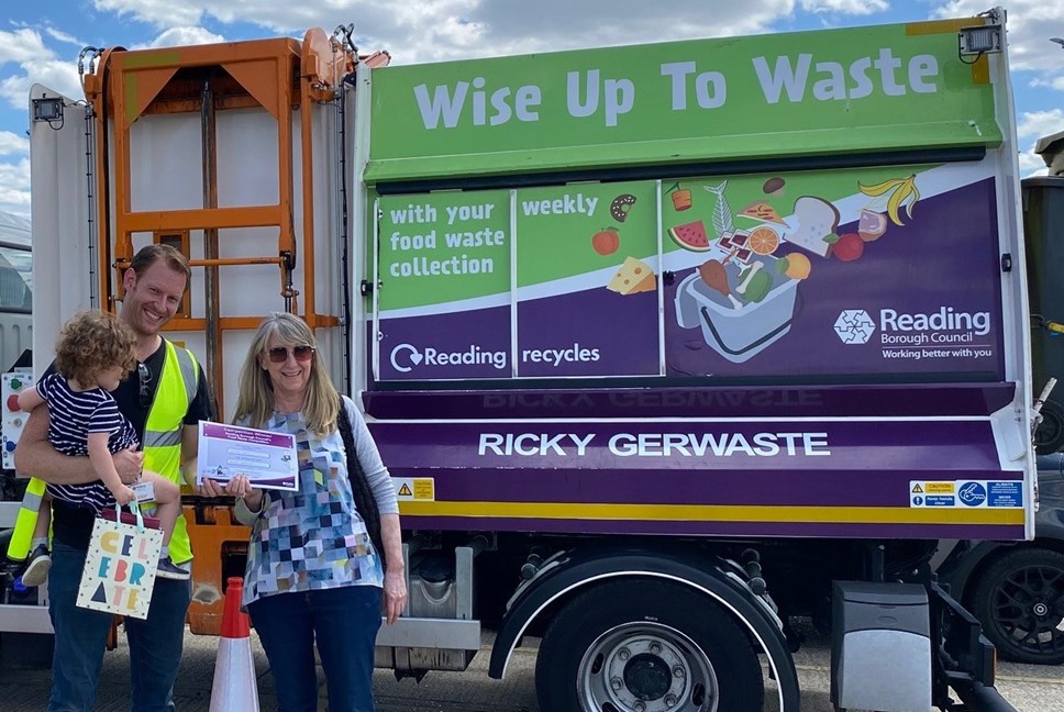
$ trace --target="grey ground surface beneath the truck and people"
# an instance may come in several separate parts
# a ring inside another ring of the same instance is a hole
[[[218,643],[214,637],[187,634],[181,672],[175,690],[179,712],[209,712]],[[492,680],[487,676],[490,634],[485,634],[480,653],[465,672],[431,672],[419,683],[410,678],[397,681],[391,671],[378,670],[374,677],[377,710],[541,712],[534,689],[536,644],[535,639],[525,639],[525,647],[514,654],[505,680]],[[38,653],[34,648],[34,645],[27,645],[25,638],[0,638],[0,712],[40,712],[46,709],[49,671],[24,667]],[[247,642],[247,649],[255,666],[259,708],[262,712],[276,710],[269,666],[254,632]],[[829,655],[828,641],[811,634],[795,656],[802,688],[802,712],[832,712]],[[320,681],[323,683],[323,678],[320,677]],[[998,668],[997,687],[1018,712],[1064,712],[1064,667],[1002,663]],[[765,692],[768,700],[765,709],[778,710],[774,699],[775,688],[771,682],[766,682]],[[322,694],[320,709],[325,710],[324,685]],[[119,647],[104,657],[96,710],[125,712],[128,705],[129,650],[120,632]]]

